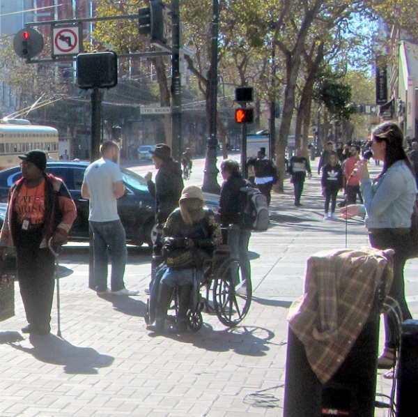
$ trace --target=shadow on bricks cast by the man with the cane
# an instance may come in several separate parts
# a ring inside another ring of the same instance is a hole
[[[9,344],[17,350],[31,354],[38,361],[64,365],[66,374],[98,374],[97,368],[109,367],[114,361],[113,356],[99,354],[91,347],[74,346],[52,334],[31,335],[29,340],[33,348],[22,347],[16,342],[9,342]]]

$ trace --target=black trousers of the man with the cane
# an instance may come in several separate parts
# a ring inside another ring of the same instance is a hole
[[[49,326],[54,299],[55,258],[48,248],[16,248],[17,278],[26,312],[33,326]]]

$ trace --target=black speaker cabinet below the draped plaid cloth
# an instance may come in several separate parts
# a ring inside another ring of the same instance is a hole
[[[339,370],[321,384],[304,345],[289,328],[284,417],[373,417],[378,332],[378,314],[371,314]]]

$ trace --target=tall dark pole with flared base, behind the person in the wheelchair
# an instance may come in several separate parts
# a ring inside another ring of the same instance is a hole
[[[213,20],[212,20],[212,56],[210,59],[210,70],[208,77],[208,96],[209,96],[209,139],[208,149],[206,151],[205,174],[203,177],[202,190],[220,193],[220,186],[217,183],[217,138],[216,138],[216,121],[217,121],[217,50],[218,50],[218,24],[219,24],[219,6],[218,0],[213,0]]]

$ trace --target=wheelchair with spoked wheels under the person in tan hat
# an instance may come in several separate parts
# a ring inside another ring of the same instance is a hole
[[[159,268],[164,267],[162,265]],[[191,331],[199,331],[203,326],[202,312],[217,315],[224,326],[233,328],[245,319],[249,312],[252,297],[251,279],[246,276],[245,268],[240,259],[231,258],[228,245],[219,246],[203,266],[203,280],[196,285],[196,293],[192,295],[187,312],[188,327]],[[155,282],[158,285],[158,282]],[[173,292],[173,305],[167,313],[167,321],[176,321],[176,291]],[[153,321],[153,305],[147,302],[144,319],[146,324]],[[171,310],[171,312],[170,312]]]

